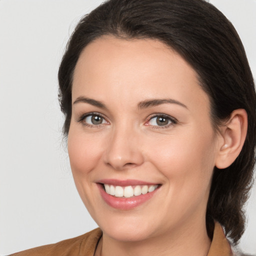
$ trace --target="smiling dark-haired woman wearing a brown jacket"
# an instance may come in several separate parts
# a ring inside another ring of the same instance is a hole
[[[203,0],[109,0],[59,67],[72,174],[99,225],[13,255],[235,255],[255,160],[255,90]],[[222,227],[224,230],[222,230]]]

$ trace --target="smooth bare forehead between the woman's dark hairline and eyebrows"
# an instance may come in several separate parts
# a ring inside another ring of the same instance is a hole
[[[73,100],[81,94],[96,95],[99,100],[107,95],[112,102],[168,96],[207,108],[209,103],[193,68],[154,39],[100,37],[88,44],[73,77]]]

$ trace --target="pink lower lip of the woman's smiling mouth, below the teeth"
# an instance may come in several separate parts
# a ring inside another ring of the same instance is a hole
[[[97,185],[104,201],[111,207],[116,209],[122,209],[122,210],[128,210],[128,209],[137,207],[143,202],[146,202],[147,200],[149,200],[154,195],[156,190],[158,190],[158,187],[157,187],[152,192],[148,192],[146,194],[140,194],[134,197],[124,198],[124,197],[115,197],[113,195],[107,194],[104,188],[102,187],[102,184],[97,184]]]

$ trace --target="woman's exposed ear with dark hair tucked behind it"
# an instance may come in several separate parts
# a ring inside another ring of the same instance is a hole
[[[219,169],[228,167],[239,155],[247,132],[247,113],[235,109],[224,125],[219,127],[220,137],[215,159]]]

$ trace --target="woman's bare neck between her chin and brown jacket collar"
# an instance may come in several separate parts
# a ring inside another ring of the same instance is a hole
[[[120,241],[102,234],[95,256],[206,256],[210,247],[205,221],[139,241]]]

